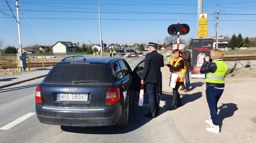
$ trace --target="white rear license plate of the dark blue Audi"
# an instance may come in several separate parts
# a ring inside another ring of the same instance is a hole
[[[57,101],[88,101],[88,93],[58,93]]]

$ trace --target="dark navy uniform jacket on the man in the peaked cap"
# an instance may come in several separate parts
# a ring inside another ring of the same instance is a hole
[[[161,82],[161,67],[164,66],[163,55],[159,54],[156,50],[147,53],[141,80],[151,83]]]

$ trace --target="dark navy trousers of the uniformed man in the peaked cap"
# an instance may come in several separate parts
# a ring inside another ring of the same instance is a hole
[[[160,110],[160,97],[159,97],[159,83],[146,83],[147,84],[147,94],[149,101],[149,112],[152,115],[156,115]]]

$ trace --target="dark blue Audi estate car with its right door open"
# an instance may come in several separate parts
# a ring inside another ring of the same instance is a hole
[[[66,57],[36,88],[37,118],[63,126],[127,126],[143,67],[135,70],[119,56]]]

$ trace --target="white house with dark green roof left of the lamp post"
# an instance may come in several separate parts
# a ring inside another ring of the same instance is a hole
[[[53,53],[75,52],[77,47],[78,46],[76,45],[76,43],[72,43],[70,41],[69,42],[58,41],[52,46]]]

